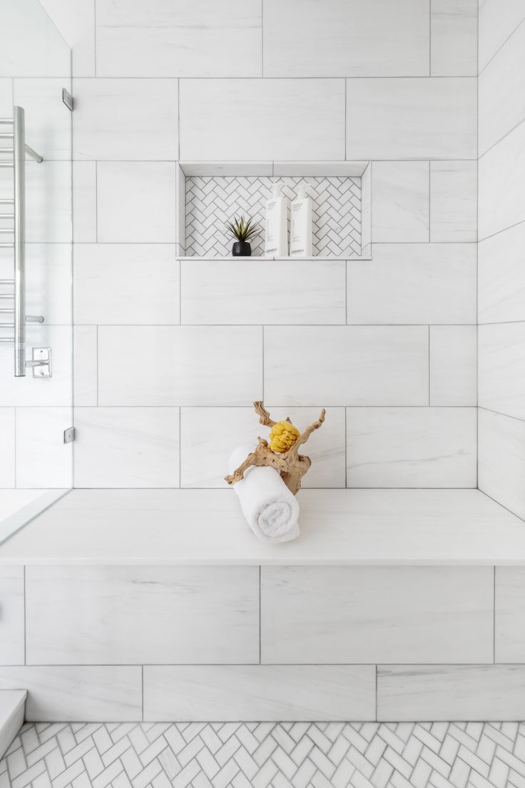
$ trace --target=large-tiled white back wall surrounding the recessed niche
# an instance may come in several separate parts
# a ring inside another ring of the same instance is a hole
[[[73,46],[76,486],[476,485],[477,2],[46,0]],[[300,24],[298,25],[298,20]],[[183,260],[176,161],[372,161],[372,260]]]

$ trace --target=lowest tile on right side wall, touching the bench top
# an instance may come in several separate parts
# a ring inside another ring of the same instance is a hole
[[[480,408],[479,489],[525,519],[525,422]]]

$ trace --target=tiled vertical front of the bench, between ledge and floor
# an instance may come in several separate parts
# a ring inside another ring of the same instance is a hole
[[[30,720],[523,719],[523,567],[33,564],[0,593]]]

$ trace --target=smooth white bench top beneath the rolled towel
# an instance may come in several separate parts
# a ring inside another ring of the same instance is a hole
[[[2,563],[525,565],[525,523],[476,489],[305,489],[301,537],[264,545],[231,489],[76,489]]]

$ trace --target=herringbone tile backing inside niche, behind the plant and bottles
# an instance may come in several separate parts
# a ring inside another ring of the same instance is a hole
[[[232,240],[225,225],[244,214],[261,232],[252,254],[264,255],[264,214],[273,184],[294,199],[300,184],[309,186],[313,203],[313,254],[351,257],[361,254],[361,179],[359,177],[187,177],[186,254],[224,257]]]

